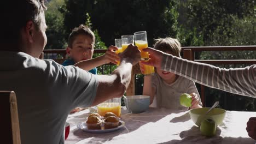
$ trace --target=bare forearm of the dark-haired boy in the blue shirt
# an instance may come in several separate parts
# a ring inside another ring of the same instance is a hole
[[[99,56],[96,58],[78,62],[78,63],[74,64],[74,66],[77,66],[83,70],[91,70],[91,69],[98,67],[102,64],[105,64],[103,61],[103,56]]]

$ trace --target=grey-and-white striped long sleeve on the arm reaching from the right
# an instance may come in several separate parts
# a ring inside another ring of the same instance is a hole
[[[226,92],[256,97],[256,65],[245,68],[219,68],[210,64],[164,55],[161,69]]]

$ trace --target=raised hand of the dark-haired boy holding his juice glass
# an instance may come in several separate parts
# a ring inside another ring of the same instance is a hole
[[[105,63],[114,63],[117,64],[117,61],[120,61],[120,57],[113,50],[117,51],[118,48],[115,46],[109,46],[106,53],[103,55],[103,59]]]

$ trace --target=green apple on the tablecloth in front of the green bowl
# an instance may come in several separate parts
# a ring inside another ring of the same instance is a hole
[[[201,134],[207,137],[214,136],[216,134],[216,122],[211,118],[206,118],[200,125]]]

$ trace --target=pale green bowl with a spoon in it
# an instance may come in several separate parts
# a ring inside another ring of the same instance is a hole
[[[205,113],[210,109],[210,107],[202,107],[198,109],[191,109],[189,110],[189,115],[192,121],[200,127],[201,122],[205,118],[212,118],[216,122],[216,125],[220,125],[223,122],[223,119],[226,115],[226,110],[214,108],[212,109],[207,115]]]

